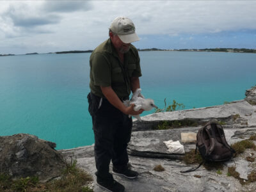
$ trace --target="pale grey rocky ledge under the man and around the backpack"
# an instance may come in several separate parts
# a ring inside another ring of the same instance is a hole
[[[205,122],[215,120],[223,125],[228,143],[249,138],[256,134],[256,86],[246,90],[246,98],[221,106],[188,109],[182,111],[154,113],[143,116],[142,122],[134,121],[131,142],[129,143],[130,163],[132,168],[140,173],[138,179],[129,180],[114,175],[115,179],[124,184],[125,191],[255,191],[256,182],[241,185],[239,180],[228,177],[227,169],[236,166],[236,171],[244,180],[248,174],[256,171],[256,163],[245,160],[252,156],[252,151],[223,164],[222,174],[218,170],[206,170],[201,166],[191,173],[180,173],[191,166],[184,164],[183,155],[170,154],[163,141],[181,140],[181,132],[197,132]],[[159,125],[180,125],[179,128],[156,130]],[[254,141],[255,142],[255,141]],[[195,148],[195,143],[182,143],[186,151]],[[94,177],[93,191],[102,191],[95,185],[95,161],[93,145],[60,150],[67,159],[75,157],[77,164]],[[254,152],[256,154],[256,152]],[[255,156],[255,155],[254,155]],[[163,172],[157,172],[154,167],[163,166]],[[196,164],[192,165],[196,166]],[[110,168],[111,169],[111,168]],[[104,191],[104,190],[103,190]]]

